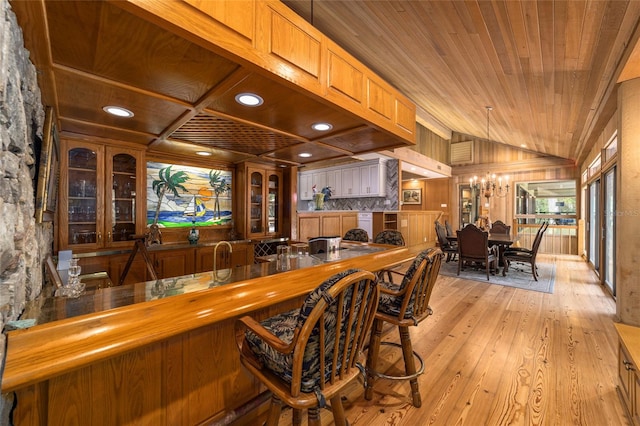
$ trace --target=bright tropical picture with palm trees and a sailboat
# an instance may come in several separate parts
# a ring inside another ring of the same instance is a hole
[[[228,170],[147,162],[147,225],[160,228],[231,223]]]

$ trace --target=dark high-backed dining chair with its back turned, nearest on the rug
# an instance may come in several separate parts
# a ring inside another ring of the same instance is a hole
[[[458,275],[466,266],[466,262],[473,262],[484,265],[488,280],[489,272],[495,273],[498,268],[498,251],[495,246],[489,247],[489,233],[474,224],[469,224],[456,233],[458,235]]]

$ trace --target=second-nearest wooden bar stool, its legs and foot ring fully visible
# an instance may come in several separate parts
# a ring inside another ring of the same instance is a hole
[[[396,270],[390,270],[393,274],[402,275],[400,284],[380,282],[380,304],[373,322],[367,354],[365,399],[371,400],[373,397],[373,386],[378,378],[409,380],[413,405],[415,407],[422,405],[418,376],[424,371],[424,361],[419,354],[413,351],[409,327],[417,326],[433,313],[429,307],[429,299],[438,278],[443,257],[444,254],[438,248],[423,250],[415,257],[403,275]],[[376,370],[380,345],[383,344],[381,342],[382,326],[385,322],[397,326],[400,332],[400,345],[391,342],[384,342],[384,344],[402,348],[405,365],[405,375],[403,376],[386,375]],[[416,359],[420,364],[417,369]]]

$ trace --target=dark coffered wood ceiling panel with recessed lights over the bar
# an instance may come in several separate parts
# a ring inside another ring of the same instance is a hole
[[[149,152],[279,165],[327,161],[406,146],[355,114],[171,33],[104,1],[14,1],[42,99],[61,132]],[[247,108],[238,93],[259,93]],[[132,118],[111,116],[123,106]],[[312,123],[330,122],[322,133]],[[300,153],[312,154],[309,159]]]

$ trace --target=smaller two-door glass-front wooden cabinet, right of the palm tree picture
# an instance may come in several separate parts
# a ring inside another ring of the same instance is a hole
[[[282,172],[250,166],[247,171],[246,237],[282,233]]]

